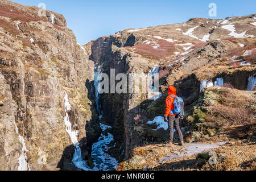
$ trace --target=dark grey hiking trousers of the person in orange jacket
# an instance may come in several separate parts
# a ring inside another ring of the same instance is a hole
[[[169,121],[168,121],[169,141],[168,142],[174,142],[174,123],[175,123],[175,128],[179,133],[180,141],[183,142],[183,135],[180,130],[179,120],[180,120],[180,117],[177,115],[172,115],[169,117]]]

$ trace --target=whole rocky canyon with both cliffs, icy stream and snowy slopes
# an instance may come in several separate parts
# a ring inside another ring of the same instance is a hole
[[[254,126],[255,14],[130,28],[81,46],[63,15],[6,0],[0,10],[0,170],[158,169],[148,163],[170,155],[155,146],[168,139],[168,85],[184,98],[187,143],[231,141],[224,130]],[[111,69],[159,74],[159,92],[100,94]]]

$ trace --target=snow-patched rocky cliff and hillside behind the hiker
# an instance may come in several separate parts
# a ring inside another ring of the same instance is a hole
[[[247,89],[249,77],[255,74],[254,19],[255,15],[215,20],[193,18],[180,24],[119,31],[84,46],[89,59],[103,65],[102,72],[108,75],[110,68],[115,69],[115,74],[126,75],[147,74],[159,68],[163,96],[153,103],[147,94],[101,96],[102,120],[117,125],[113,132],[118,147],[122,147],[119,152],[125,151],[122,158],[129,159],[135,146],[167,139],[166,131],[154,132],[146,122],[164,114],[168,85],[175,85],[185,99],[186,116],[192,114],[193,102],[199,98],[201,89],[211,83]],[[190,130],[186,120],[181,125],[184,134]]]

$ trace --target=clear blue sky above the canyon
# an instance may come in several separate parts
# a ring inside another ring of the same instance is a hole
[[[46,9],[63,14],[68,27],[84,45],[100,36],[127,28],[183,23],[189,18],[222,19],[254,14],[255,0],[13,0],[28,6],[45,3]],[[209,17],[209,4],[216,3],[217,16]]]

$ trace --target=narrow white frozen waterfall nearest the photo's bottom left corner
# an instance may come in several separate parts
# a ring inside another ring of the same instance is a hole
[[[27,148],[24,138],[19,134],[18,127],[14,121],[15,131],[19,135],[19,141],[22,143],[22,154],[19,156],[18,171],[31,171],[31,166],[27,163]]]

